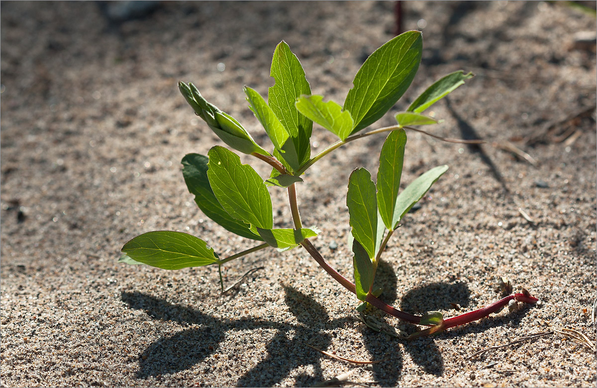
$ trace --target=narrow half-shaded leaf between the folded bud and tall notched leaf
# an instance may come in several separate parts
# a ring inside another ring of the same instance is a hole
[[[255,117],[257,117],[257,120],[263,125],[263,128],[265,128],[267,136],[272,140],[273,146],[276,147],[282,158],[288,162],[292,170],[298,170],[300,163],[298,162],[297,150],[294,147],[290,133],[257,91],[248,86],[245,86],[244,89],[245,94],[247,94],[249,107],[255,114]]]

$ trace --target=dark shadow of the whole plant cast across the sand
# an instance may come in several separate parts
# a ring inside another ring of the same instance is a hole
[[[376,286],[387,290],[381,296],[385,302],[395,302],[397,297],[396,283],[393,268],[387,262],[381,262],[378,268]],[[198,309],[173,305],[166,300],[143,293],[123,292],[121,294],[122,300],[130,308],[143,310],[151,318],[180,322],[182,325],[201,324],[201,327],[188,328],[149,344],[140,357],[137,377],[146,378],[160,374],[177,373],[192,368],[213,353],[224,352],[220,347],[220,343],[226,339],[227,331],[273,329],[277,332],[266,345],[267,356],[242,375],[236,382],[237,386],[271,386],[278,384],[300,365],[313,365],[313,373],[297,375],[295,377],[297,385],[308,386],[325,380],[321,369],[323,355],[306,347],[305,343],[312,343],[313,346],[322,350],[328,349],[332,342],[330,334],[317,331],[312,327],[313,322],[315,320],[325,322],[325,330],[334,330],[344,327],[346,319],[342,317],[330,320],[324,306],[315,302],[312,297],[300,293],[292,287],[284,287],[284,291],[285,305],[296,317],[298,324],[253,318],[240,318],[224,322],[219,318],[204,314]],[[469,290],[466,284],[463,283],[433,283],[414,288],[405,294],[401,300],[402,308],[406,311],[421,312],[433,309],[450,309],[450,303],[466,306],[469,300]],[[409,300],[427,302],[410,305],[408,304]],[[363,325],[362,335],[371,359],[389,360],[372,365],[374,378],[377,383],[383,386],[394,386],[396,384],[402,372],[402,351],[398,345],[399,343],[404,344],[404,349],[410,354],[411,359],[423,368],[426,373],[442,375],[444,362],[435,340],[461,336],[463,330],[466,333],[478,333],[488,327],[503,325],[506,321],[513,321],[514,324],[517,324],[522,319],[524,311],[526,309],[521,309],[521,311],[508,315],[503,319],[491,319],[489,323],[479,324],[473,322],[464,328],[460,328],[457,334],[447,331],[435,337],[421,337],[413,343],[407,343],[387,334],[377,333]],[[374,313],[379,314],[380,317],[383,316],[381,312],[376,311]],[[321,327],[321,325],[318,324],[318,327]]]

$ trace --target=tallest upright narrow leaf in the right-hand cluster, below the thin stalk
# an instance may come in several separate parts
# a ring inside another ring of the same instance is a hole
[[[404,129],[390,132],[383,142],[379,155],[377,170],[377,207],[383,224],[393,229],[392,219],[396,207],[396,198],[400,189],[402,164],[404,163],[404,147],[407,134]]]

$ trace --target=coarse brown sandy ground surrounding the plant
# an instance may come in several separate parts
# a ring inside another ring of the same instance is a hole
[[[2,386],[311,386],[350,373],[354,383],[341,384],[594,387],[595,352],[559,333],[467,357],[561,328],[595,343],[595,44],[575,44],[595,17],[544,2],[404,7],[404,28],[423,30],[423,60],[390,113],[442,75],[472,71],[435,105],[445,122],[430,130],[488,144],[408,133],[403,182],[450,170],[390,242],[383,298],[454,316],[451,303],[463,312],[497,300],[504,277],[540,305],[407,343],[359,321],[356,298],[300,249],[230,263],[227,285],[263,268],[224,295],[215,268],[117,262],[128,239],[156,229],[198,235],[221,256],[251,246],[186,190],[182,157],[221,143],[178,80],[269,147],[242,85],[266,94],[276,44],[296,52],[314,93],[341,103],[362,61],[392,38],[393,2],[163,2],[111,23],[96,2],[2,2]],[[391,123],[388,114],[375,127]],[[358,166],[376,173],[383,139],[340,148],[297,188],[304,224],[323,231],[313,243],[347,277],[347,178]],[[315,128],[313,152],[333,141]],[[270,192],[276,226],[290,226],[284,191]],[[307,344],[384,361],[350,364]]]

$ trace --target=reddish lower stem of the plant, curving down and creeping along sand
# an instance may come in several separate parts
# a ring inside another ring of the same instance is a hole
[[[325,269],[325,271],[328,272],[328,274],[331,275],[331,277],[333,277],[336,281],[338,281],[338,283],[340,283],[341,285],[346,287],[347,290],[356,294],[355,284],[352,283],[347,278],[343,277],[341,274],[339,274],[336,271],[336,269],[332,268],[325,261],[324,257],[321,256],[319,251],[313,246],[313,244],[311,244],[311,242],[309,240],[305,239],[301,243],[301,245],[304,247],[304,249],[307,250],[307,252],[309,252],[309,254],[313,257],[313,259],[315,259],[315,261],[323,269]],[[417,337],[421,337],[421,336],[429,336],[430,334],[439,333],[440,331],[444,331],[451,327],[456,327],[456,326],[464,325],[464,324],[467,324],[467,323],[470,323],[473,321],[477,321],[478,319],[484,318],[485,316],[488,316],[493,312],[500,311],[501,309],[503,309],[505,306],[508,305],[510,300],[516,300],[517,302],[524,302],[524,303],[537,303],[537,301],[538,301],[538,299],[536,297],[531,296],[531,294],[527,290],[523,289],[521,294],[513,294],[510,296],[506,296],[505,298],[500,299],[497,302],[491,303],[491,305],[485,306],[484,308],[481,308],[481,309],[478,309],[475,311],[471,311],[471,312],[467,312],[467,313],[464,313],[464,314],[461,314],[458,316],[454,316],[452,318],[445,319],[439,325],[427,325],[427,326],[431,326],[431,327],[429,327],[425,330],[418,331],[417,333],[411,334],[408,337],[408,340],[416,339]],[[367,295],[367,302],[371,303],[371,305],[376,306],[381,311],[384,311],[384,312],[388,313],[389,315],[392,315],[398,319],[401,319],[402,321],[410,322],[412,324],[420,324],[420,322],[421,322],[420,316],[412,315],[412,314],[406,313],[404,311],[395,309],[392,306],[387,305],[387,303],[382,302],[377,297],[373,296],[373,294]]]

